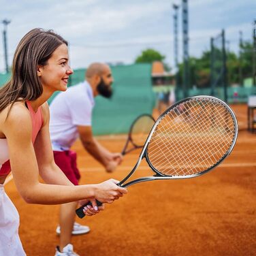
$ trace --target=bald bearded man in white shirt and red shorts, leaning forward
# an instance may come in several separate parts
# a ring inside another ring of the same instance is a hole
[[[59,93],[50,105],[50,137],[54,160],[74,185],[78,185],[80,173],[76,167],[76,153],[69,149],[78,137],[84,148],[107,172],[114,171],[122,161],[120,153],[110,153],[95,140],[91,128],[94,97],[111,97],[112,82],[110,67],[103,63],[93,63],[86,70],[84,82]],[[76,208],[76,202],[61,205],[60,226],[57,227],[60,246],[55,255],[77,255],[69,253],[73,251],[71,234],[85,234],[90,230],[89,227],[74,222]]]

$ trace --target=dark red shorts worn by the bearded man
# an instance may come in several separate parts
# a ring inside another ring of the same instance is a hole
[[[65,176],[74,184],[78,185],[80,180],[80,172],[76,167],[76,152],[67,151],[53,151],[54,161],[64,172]]]

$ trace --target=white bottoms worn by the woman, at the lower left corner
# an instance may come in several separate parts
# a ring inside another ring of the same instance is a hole
[[[0,256],[25,256],[18,236],[20,217],[0,184]]]

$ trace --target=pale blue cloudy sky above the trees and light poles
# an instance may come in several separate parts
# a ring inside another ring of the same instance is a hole
[[[52,29],[69,42],[74,69],[95,61],[134,63],[142,50],[153,48],[174,67],[174,10],[182,0],[0,0],[0,21],[7,26],[8,63],[31,29]],[[252,40],[255,0],[188,0],[189,56],[210,49],[210,37],[225,29],[227,47],[238,52],[239,31]],[[178,61],[182,61],[181,7],[178,11]],[[0,24],[0,72],[5,70],[3,24]]]

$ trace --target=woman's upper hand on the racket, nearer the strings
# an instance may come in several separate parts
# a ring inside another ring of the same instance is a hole
[[[123,194],[127,193],[127,189],[119,187],[118,183],[118,180],[111,178],[96,185],[95,199],[101,203],[111,204],[119,197],[123,197]]]

